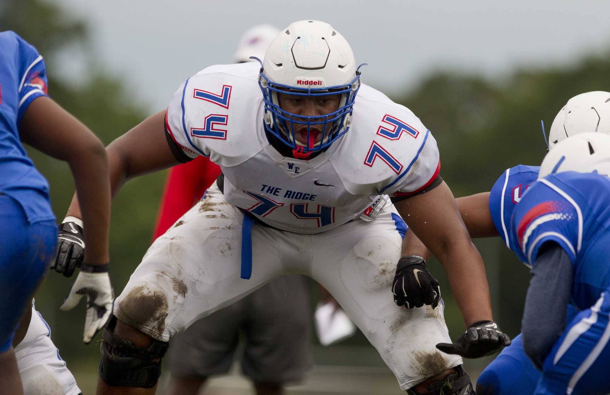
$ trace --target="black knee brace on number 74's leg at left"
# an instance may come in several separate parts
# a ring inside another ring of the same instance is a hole
[[[104,327],[100,346],[99,377],[107,385],[152,388],[161,375],[161,361],[167,351],[168,342],[154,340],[146,348],[137,347],[129,340],[119,339],[113,330],[117,317],[112,316]]]

